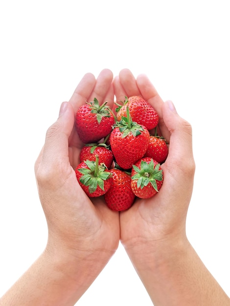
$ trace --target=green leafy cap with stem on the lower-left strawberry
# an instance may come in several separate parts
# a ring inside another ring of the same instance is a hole
[[[88,168],[80,168],[78,171],[83,174],[80,178],[80,182],[85,185],[89,186],[89,193],[92,194],[97,186],[101,188],[101,190],[105,191],[104,189],[104,181],[111,177],[111,173],[107,170],[105,164],[99,165],[99,157],[96,156],[96,161],[86,160],[84,161]]]

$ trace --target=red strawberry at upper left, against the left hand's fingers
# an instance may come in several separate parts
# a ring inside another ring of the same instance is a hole
[[[100,106],[94,98],[93,102],[87,102],[77,110],[75,124],[82,142],[97,142],[112,131],[115,118],[106,104]]]

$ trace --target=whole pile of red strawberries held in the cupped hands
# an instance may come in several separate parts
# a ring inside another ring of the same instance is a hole
[[[104,195],[110,209],[123,211],[136,197],[159,192],[168,147],[157,135],[159,116],[147,101],[132,96],[116,105],[114,114],[94,98],[78,109],[76,131],[85,146],[75,173],[89,197]]]

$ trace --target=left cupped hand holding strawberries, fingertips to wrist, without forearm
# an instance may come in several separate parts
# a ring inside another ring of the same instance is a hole
[[[108,261],[119,242],[119,216],[103,197],[89,198],[79,186],[75,168],[83,147],[75,130],[77,109],[97,98],[112,106],[113,74],[101,71],[97,79],[87,73],[69,102],[64,102],[59,118],[46,133],[45,145],[35,163],[39,197],[48,226],[47,248],[70,252],[74,256],[100,253]],[[96,255],[98,256],[98,254]]]

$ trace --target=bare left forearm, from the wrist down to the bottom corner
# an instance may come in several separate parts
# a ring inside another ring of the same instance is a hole
[[[4,294],[0,306],[73,306],[108,261],[102,254],[82,256],[45,251]]]

